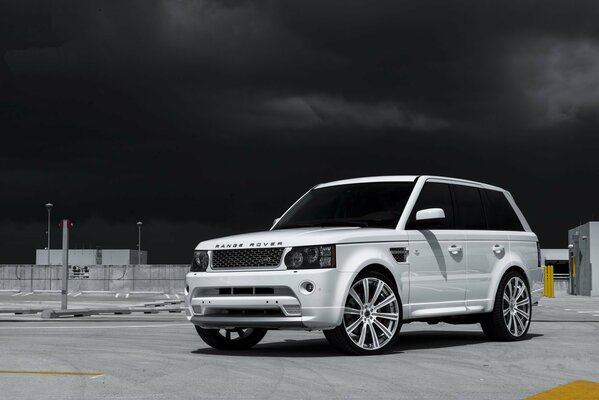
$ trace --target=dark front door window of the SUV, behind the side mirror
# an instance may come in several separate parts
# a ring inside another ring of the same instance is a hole
[[[445,212],[442,221],[416,221],[416,212],[426,208],[441,208]],[[451,192],[446,183],[425,183],[416,200],[406,229],[453,229],[453,205]]]

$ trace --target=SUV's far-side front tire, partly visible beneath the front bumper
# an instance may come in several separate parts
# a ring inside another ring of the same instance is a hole
[[[196,331],[208,346],[215,349],[246,350],[257,345],[268,329],[204,329],[196,325]]]

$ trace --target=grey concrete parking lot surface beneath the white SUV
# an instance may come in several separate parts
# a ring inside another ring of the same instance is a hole
[[[544,298],[533,313],[521,342],[412,323],[390,354],[368,357],[338,353],[321,332],[270,331],[254,349],[218,351],[182,313],[0,314],[0,398],[521,399],[599,382],[599,298]]]

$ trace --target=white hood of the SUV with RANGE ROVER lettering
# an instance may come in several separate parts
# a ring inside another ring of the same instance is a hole
[[[405,231],[382,228],[333,227],[278,229],[206,240],[196,250],[293,247],[382,241],[406,241]]]

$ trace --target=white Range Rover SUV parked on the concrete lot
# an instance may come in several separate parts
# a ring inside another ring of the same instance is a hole
[[[519,340],[542,296],[539,246],[510,193],[434,176],[315,186],[266,232],[201,242],[186,313],[219,349],[268,329],[323,330],[335,347],[380,353],[402,323],[480,323]]]

